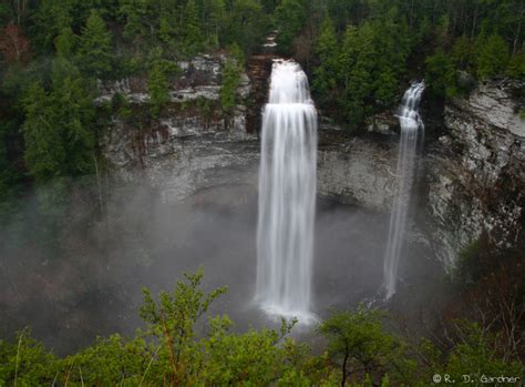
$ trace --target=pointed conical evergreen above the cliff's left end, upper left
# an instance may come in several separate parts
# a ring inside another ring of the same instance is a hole
[[[107,78],[112,70],[111,32],[97,11],[92,10],[79,38],[79,67],[87,74]]]

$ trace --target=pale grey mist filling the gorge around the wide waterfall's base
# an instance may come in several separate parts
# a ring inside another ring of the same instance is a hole
[[[132,334],[143,326],[142,288],[169,292],[183,273],[199,266],[207,291],[228,286],[209,314],[228,314],[237,330],[278,325],[254,303],[257,189],[251,183],[208,187],[177,203],[165,202],[145,183],[111,182],[102,201],[97,193],[94,179],[48,185],[21,197],[3,222],[4,337],[30,326],[49,348],[69,354],[96,336]],[[319,319],[332,307],[380,299],[388,217],[318,197],[312,310]],[[412,272],[401,265],[401,283],[418,278],[414,267],[426,271],[426,261],[411,264]],[[300,323],[299,333],[311,328]]]

